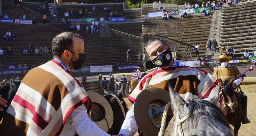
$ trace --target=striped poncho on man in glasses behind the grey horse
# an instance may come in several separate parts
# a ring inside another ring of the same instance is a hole
[[[198,68],[184,66],[157,69],[143,77],[128,99],[133,103],[140,92],[149,87],[168,90],[168,82],[185,101],[194,98],[206,98],[216,87],[218,80],[211,74]]]

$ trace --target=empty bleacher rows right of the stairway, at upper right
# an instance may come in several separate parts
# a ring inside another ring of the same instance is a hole
[[[256,1],[224,5],[221,21],[221,46],[234,47],[238,56],[255,50]]]

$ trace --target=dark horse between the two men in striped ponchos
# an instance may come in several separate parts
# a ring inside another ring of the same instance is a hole
[[[108,89],[106,87],[103,88],[102,94],[104,98],[109,102],[114,116],[113,125],[107,132],[110,135],[118,135],[128,112],[128,107],[123,99],[123,91],[125,91],[124,85],[116,95],[113,95],[112,93],[109,94]]]

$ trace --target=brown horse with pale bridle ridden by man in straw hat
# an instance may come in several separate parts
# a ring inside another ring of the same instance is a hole
[[[227,119],[228,123],[234,127],[234,135],[237,136],[238,130],[240,129],[243,112],[242,106],[240,104],[240,97],[234,92],[232,86],[234,78],[228,82],[225,80],[224,83],[219,79],[219,84],[223,86],[222,90],[222,100],[220,102],[219,108],[221,109],[224,117]]]

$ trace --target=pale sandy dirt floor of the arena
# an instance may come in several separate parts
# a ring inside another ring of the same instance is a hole
[[[241,124],[241,128],[238,131],[238,136],[256,136],[256,84],[251,85],[241,85],[243,92],[248,97],[247,102],[247,117],[251,121],[248,124]],[[131,107],[131,102],[127,99],[126,95],[125,102]],[[136,133],[134,136],[138,136]]]

